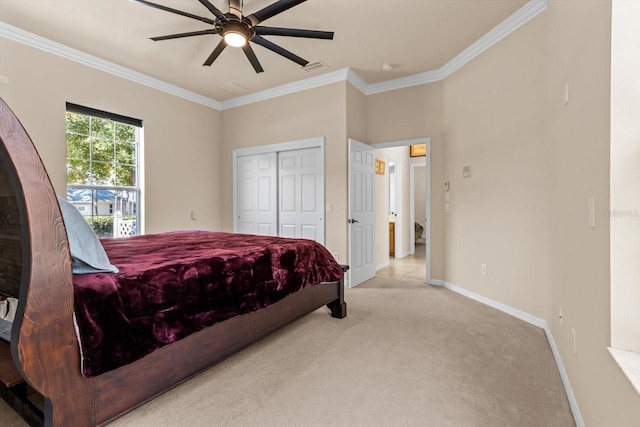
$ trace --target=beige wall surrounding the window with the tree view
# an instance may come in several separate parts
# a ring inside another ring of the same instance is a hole
[[[65,103],[137,119],[145,132],[146,232],[221,226],[220,116],[184,99],[0,38],[0,96],[65,194]],[[191,220],[195,211],[197,220]]]

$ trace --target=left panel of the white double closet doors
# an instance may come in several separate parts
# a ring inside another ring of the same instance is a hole
[[[236,158],[236,230],[278,235],[278,165],[276,153]]]

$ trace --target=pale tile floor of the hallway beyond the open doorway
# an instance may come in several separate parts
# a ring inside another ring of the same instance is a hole
[[[421,287],[425,285],[425,243],[416,243],[414,255],[390,258],[389,265],[376,272],[376,277],[361,283],[358,288]]]

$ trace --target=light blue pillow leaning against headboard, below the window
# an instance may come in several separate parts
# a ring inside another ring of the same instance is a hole
[[[78,209],[60,196],[58,204],[67,228],[73,274],[117,273],[98,236]]]

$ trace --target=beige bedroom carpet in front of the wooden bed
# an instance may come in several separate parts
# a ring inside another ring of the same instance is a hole
[[[575,425],[541,329],[411,285],[347,290],[347,318],[318,310],[112,425]]]

